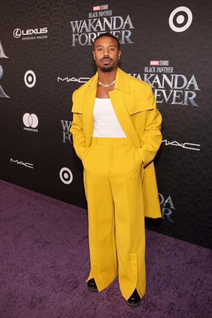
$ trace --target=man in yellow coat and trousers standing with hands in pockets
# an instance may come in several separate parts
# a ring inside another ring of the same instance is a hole
[[[160,218],[154,156],[162,141],[152,87],[118,67],[119,40],[93,43],[96,74],[74,91],[73,147],[84,167],[91,291],[119,275],[122,296],[136,307],[146,293],[144,217]]]

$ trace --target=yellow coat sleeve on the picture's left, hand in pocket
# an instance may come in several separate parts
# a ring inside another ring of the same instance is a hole
[[[74,112],[74,95],[76,91],[74,91],[72,95],[72,112],[73,112],[73,120],[72,120],[72,125],[71,128],[69,129],[70,133],[72,133],[73,136],[73,147],[75,149],[75,152],[77,156],[82,160],[82,155],[86,150],[85,147],[85,138],[83,134],[83,124],[80,119],[80,116],[78,113]]]

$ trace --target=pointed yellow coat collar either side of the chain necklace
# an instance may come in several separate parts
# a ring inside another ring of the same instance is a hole
[[[122,92],[125,92],[127,94],[129,94],[129,83],[128,83],[128,77],[127,77],[127,73],[125,73],[124,71],[122,71],[119,67],[116,73],[116,79],[115,79],[115,85],[114,85],[114,89],[119,89]],[[96,74],[89,79],[89,81],[86,83],[86,86],[97,86],[97,81],[98,81],[98,72],[96,72]]]

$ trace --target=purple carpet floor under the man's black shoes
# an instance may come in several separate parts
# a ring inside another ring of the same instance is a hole
[[[87,211],[0,180],[1,318],[209,318],[211,250],[146,230],[147,292],[87,290]]]

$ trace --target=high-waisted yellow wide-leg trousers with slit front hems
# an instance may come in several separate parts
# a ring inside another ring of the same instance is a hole
[[[146,293],[143,164],[126,137],[92,137],[82,156],[90,274],[98,291],[119,275],[122,296]]]

